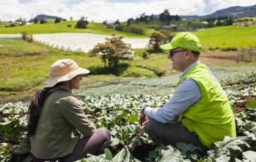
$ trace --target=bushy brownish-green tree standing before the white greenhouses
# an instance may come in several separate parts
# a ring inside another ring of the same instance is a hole
[[[122,42],[122,37],[106,38],[106,43],[98,43],[92,50],[94,54],[100,54],[106,67],[118,67],[119,60],[131,55],[130,45]]]

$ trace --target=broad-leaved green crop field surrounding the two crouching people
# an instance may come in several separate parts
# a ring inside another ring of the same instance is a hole
[[[220,71],[220,69],[216,70]],[[87,159],[81,161],[254,161],[255,109],[246,106],[244,102],[248,98],[255,100],[256,73],[250,71],[250,73],[235,75],[233,71],[226,77],[224,74],[217,76],[222,78],[222,86],[231,100],[231,105],[235,111],[242,108],[241,113],[236,114],[238,137],[225,137],[224,141],[213,143],[204,155],[200,154],[200,149],[192,144],[176,143],[175,146],[161,145],[156,148],[138,124],[140,106],[148,104],[151,107],[160,107],[171,95],[156,96],[149,93],[84,95],[81,97],[83,110],[98,128],[105,127],[111,131],[111,146],[109,150],[105,150],[105,154],[98,157],[89,155]],[[142,82],[152,87],[157,83],[164,86],[174,84],[174,81],[173,83],[166,81],[163,79],[159,82],[158,80]],[[22,161],[28,156],[30,141],[25,135],[25,126],[28,122],[25,115],[27,108],[28,104],[21,102],[0,106],[1,161],[10,159]]]

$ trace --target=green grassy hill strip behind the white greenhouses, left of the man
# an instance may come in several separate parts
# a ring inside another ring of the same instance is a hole
[[[47,19],[49,21],[49,19]],[[19,27],[0,27],[0,34],[20,34],[21,32],[28,32],[28,34],[45,34],[45,33],[61,33],[61,32],[73,32],[73,33],[96,33],[116,36],[138,37],[147,38],[149,34],[153,32],[150,29],[144,29],[144,34],[133,34],[129,32],[116,31],[113,28],[107,28],[102,23],[89,23],[87,29],[76,29],[76,21],[62,21],[61,23],[49,23],[46,24],[32,24],[23,25]],[[67,27],[71,25],[72,27]]]

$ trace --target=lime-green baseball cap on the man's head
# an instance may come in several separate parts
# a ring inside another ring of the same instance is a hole
[[[197,36],[189,32],[178,32],[171,39],[170,43],[160,45],[164,50],[171,50],[177,47],[189,49],[191,51],[200,51],[201,44]]]

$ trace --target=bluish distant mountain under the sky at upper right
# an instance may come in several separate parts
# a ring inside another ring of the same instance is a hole
[[[226,8],[223,10],[217,10],[212,14],[207,14],[204,16],[180,16],[182,19],[193,20],[193,19],[209,19],[209,18],[217,18],[219,16],[230,16],[230,17],[253,17],[256,16],[256,5],[251,5],[247,7],[235,6],[231,8]]]

